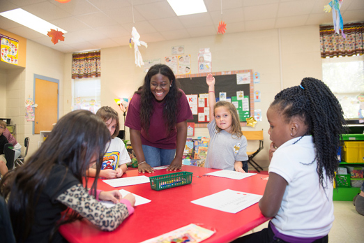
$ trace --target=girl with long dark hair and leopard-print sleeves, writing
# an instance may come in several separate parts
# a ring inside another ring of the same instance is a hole
[[[58,227],[83,216],[101,230],[114,230],[134,212],[135,197],[97,191],[97,178],[110,133],[103,120],[87,110],[70,112],[56,123],[47,140],[26,163],[1,181],[17,242],[65,242]],[[82,186],[96,163],[91,190]],[[91,196],[91,193],[94,196]],[[107,209],[97,199],[110,200]],[[121,203],[119,203],[119,200]],[[73,213],[65,220],[61,212]]]

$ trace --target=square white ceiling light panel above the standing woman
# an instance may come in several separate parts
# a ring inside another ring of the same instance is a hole
[[[206,13],[204,0],[167,0],[177,16]]]

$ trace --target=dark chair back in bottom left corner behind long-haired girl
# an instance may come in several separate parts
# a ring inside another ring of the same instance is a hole
[[[8,206],[3,196],[0,196],[0,235],[1,242],[15,243],[13,227],[11,226]]]

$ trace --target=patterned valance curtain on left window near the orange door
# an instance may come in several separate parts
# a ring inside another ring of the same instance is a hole
[[[101,76],[101,52],[85,52],[72,55],[72,78],[96,78]]]

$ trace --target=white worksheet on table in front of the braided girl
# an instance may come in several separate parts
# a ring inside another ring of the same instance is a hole
[[[226,189],[218,193],[191,201],[200,206],[236,214],[259,202],[261,195]]]

